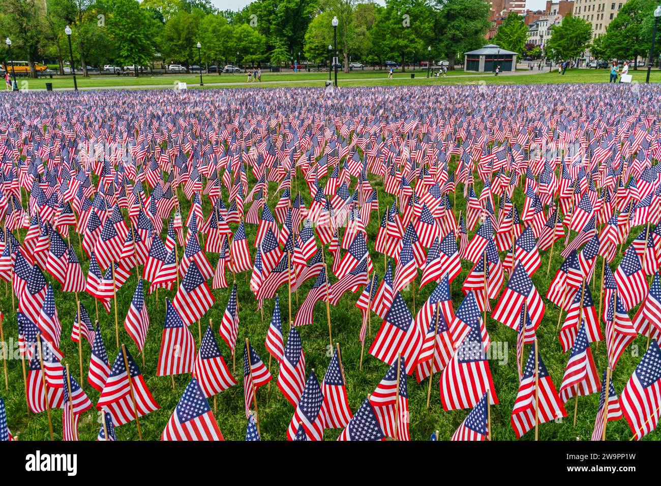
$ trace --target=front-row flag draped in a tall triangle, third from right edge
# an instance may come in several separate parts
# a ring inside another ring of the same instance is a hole
[[[535,349],[536,346],[537,341],[535,340],[525,363],[519,392],[514,401],[512,417],[510,417],[516,438],[521,438],[533,428],[535,421],[543,424],[567,416],[563,402],[553,385],[553,380]],[[537,355],[535,356],[535,354]],[[535,361],[537,362],[537,372],[535,372]]]

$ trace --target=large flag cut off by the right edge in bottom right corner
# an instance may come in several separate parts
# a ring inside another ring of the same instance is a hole
[[[652,340],[620,395],[620,406],[636,440],[652,432],[661,415],[661,350]]]

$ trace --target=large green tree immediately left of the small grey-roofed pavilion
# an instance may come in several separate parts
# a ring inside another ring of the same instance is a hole
[[[436,0],[432,56],[447,58],[447,69],[455,59],[482,47],[489,27],[489,5],[484,0]]]

